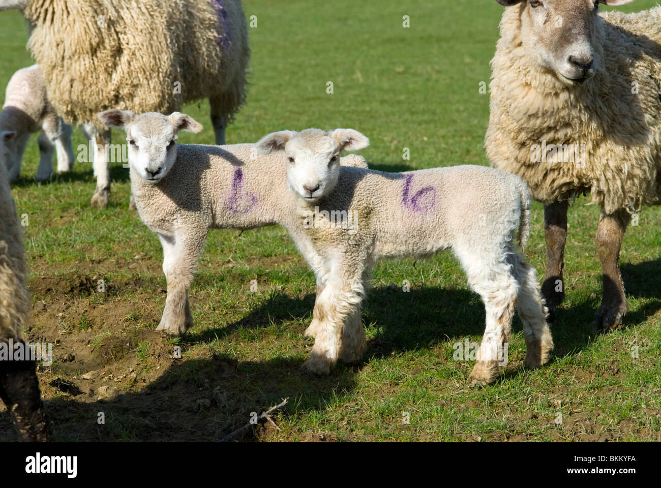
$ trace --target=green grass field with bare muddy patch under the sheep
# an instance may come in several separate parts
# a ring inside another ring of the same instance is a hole
[[[350,127],[370,138],[361,153],[375,169],[488,164],[488,94],[479,87],[488,83],[498,38],[502,7],[495,1],[412,0],[403,7],[393,0],[246,0],[244,7],[258,22],[249,32],[251,87],[227,142],[255,142],[282,129]],[[404,15],[410,28],[403,28]],[[0,13],[0,87],[30,65],[25,44],[20,15]],[[207,102],[182,111],[205,129],[182,134],[180,142],[212,143]],[[124,134],[114,131],[113,138],[120,142]],[[76,132],[74,147],[83,143]],[[402,157],[405,147],[410,160]],[[284,397],[288,405],[274,416],[282,430],[266,423],[237,438],[661,440],[660,208],[644,210],[625,235],[621,264],[631,311],[625,327],[609,335],[591,329],[601,298],[593,243],[599,210],[586,205],[589,198],[570,208],[567,298],[544,368],[523,369],[515,319],[498,382],[465,385],[473,364],[453,360],[453,345],[479,341],[485,313],[447,253],[379,264],[363,311],[363,361],[313,378],[299,366],[312,345],[302,333],[315,279],[284,229],[212,231],[190,292],[196,326],[168,339],[153,330],[165,304],[161,247],[128,209],[128,170],[112,168],[110,207],[92,210],[89,164],[39,184],[37,163],[35,136],[13,196],[29,224],[34,307],[25,337],[55,343],[54,364],[40,366],[39,378],[58,440],[216,440]],[[535,203],[526,249],[540,275],[542,214]],[[101,279],[104,292],[97,291]],[[171,357],[175,346],[180,359]],[[13,438],[1,410],[0,440]]]

